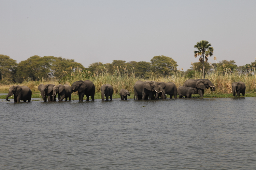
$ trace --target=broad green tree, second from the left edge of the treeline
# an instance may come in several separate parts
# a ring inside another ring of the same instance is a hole
[[[24,79],[31,79],[33,81],[40,80],[41,78],[47,79],[51,76],[51,64],[54,62],[54,56],[40,57],[34,55],[25,61],[21,61],[17,65],[17,78],[18,82]]]

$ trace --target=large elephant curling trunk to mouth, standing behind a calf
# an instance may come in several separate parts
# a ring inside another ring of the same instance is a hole
[[[204,90],[211,88],[211,91],[215,91],[216,87],[208,79],[188,79],[183,84],[185,87],[193,87],[197,89],[197,93],[201,98],[203,98]]]

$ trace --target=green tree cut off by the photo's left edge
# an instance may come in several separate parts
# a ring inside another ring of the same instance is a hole
[[[10,84],[14,82],[17,63],[7,55],[0,54],[0,80],[1,83]]]

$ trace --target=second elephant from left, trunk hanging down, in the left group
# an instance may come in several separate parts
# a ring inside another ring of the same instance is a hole
[[[48,102],[49,101],[54,101],[54,97],[53,97],[53,87],[55,86],[55,84],[40,84],[38,86],[38,90],[41,92],[41,95],[44,102],[47,101],[48,98]]]

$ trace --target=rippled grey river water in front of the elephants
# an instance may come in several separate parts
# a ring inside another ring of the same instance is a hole
[[[256,169],[256,98],[0,102],[0,169]]]

